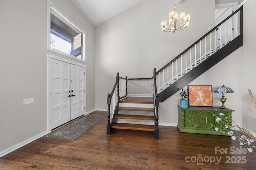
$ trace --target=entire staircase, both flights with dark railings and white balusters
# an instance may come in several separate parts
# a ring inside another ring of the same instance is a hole
[[[226,25],[230,23],[236,27],[227,30]],[[128,79],[117,73],[116,83],[107,98],[107,134],[110,135],[114,129],[154,131],[155,139],[159,139],[159,102],[164,102],[242,45],[243,12],[240,7],[160,70],[156,72],[154,68],[152,78]],[[153,92],[145,90],[151,89],[152,79]],[[127,90],[128,80],[130,95]],[[150,84],[146,85],[146,81]],[[135,94],[138,91],[140,93]],[[131,97],[145,94],[150,97]]]

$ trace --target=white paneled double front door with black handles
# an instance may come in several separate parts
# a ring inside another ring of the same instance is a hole
[[[84,67],[51,59],[51,129],[85,113]]]

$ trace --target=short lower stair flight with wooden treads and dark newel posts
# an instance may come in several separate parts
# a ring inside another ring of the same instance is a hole
[[[154,75],[156,70],[154,70]],[[116,83],[111,94],[108,94],[107,134],[114,129],[152,131],[154,138],[159,139],[158,106],[159,99],[156,88],[151,97],[127,96],[128,78],[116,75]],[[121,97],[120,97],[121,96]]]

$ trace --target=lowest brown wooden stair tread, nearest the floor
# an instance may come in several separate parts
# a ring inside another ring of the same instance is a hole
[[[130,123],[114,123],[111,126],[113,129],[129,129],[129,130],[140,130],[140,131],[155,131],[154,125],[140,125]]]

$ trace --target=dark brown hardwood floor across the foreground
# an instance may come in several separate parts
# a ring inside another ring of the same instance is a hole
[[[107,117],[75,141],[41,137],[1,157],[0,170],[256,169],[256,156],[233,153],[232,147],[240,151],[239,142],[227,136],[180,133],[177,127],[159,126],[160,139],[155,140],[150,131],[117,129],[106,135],[106,124]],[[228,151],[215,153],[215,147]]]

